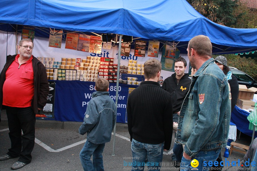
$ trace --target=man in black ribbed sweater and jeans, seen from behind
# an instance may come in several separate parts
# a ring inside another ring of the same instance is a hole
[[[133,156],[132,170],[160,170],[163,150],[172,139],[172,99],[160,87],[161,63],[156,59],[144,63],[145,81],[128,97],[128,132]],[[144,163],[147,157],[148,163]]]

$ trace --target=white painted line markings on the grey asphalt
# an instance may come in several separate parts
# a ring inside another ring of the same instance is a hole
[[[2,129],[2,130],[0,130],[0,132],[7,131],[7,130],[9,130],[9,128]],[[113,133],[112,133],[112,135],[113,135]],[[122,136],[122,135],[116,134],[116,136],[119,137],[119,138],[121,138],[121,139],[130,141],[129,138],[124,137],[124,136]],[[86,141],[87,141],[87,139],[82,140],[82,141],[79,141],[79,142],[77,142],[77,143],[73,143],[73,144],[68,145],[68,146],[65,146],[65,147],[63,147],[63,148],[59,148],[59,149],[57,149],[57,150],[54,150],[53,148],[49,147],[47,144],[45,144],[45,143],[43,143],[42,141],[40,141],[39,139],[35,138],[35,143],[39,144],[41,147],[45,148],[45,149],[46,149],[47,151],[49,151],[49,152],[60,152],[60,151],[63,151],[63,150],[67,150],[68,148],[72,148],[72,147],[77,146],[77,145],[79,145],[79,144],[85,143]],[[172,154],[172,153],[173,153],[173,150],[170,150],[169,152],[163,152],[164,155],[170,155],[170,154]]]

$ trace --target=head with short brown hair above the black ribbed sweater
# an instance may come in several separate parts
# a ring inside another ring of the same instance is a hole
[[[154,78],[162,70],[162,64],[157,59],[149,59],[144,62],[144,77],[149,80]]]

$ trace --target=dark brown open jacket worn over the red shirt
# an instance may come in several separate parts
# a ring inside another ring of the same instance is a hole
[[[7,56],[6,64],[0,74],[0,109],[5,109],[3,105],[3,84],[5,82],[5,73],[12,62],[15,60],[16,55]],[[47,80],[47,73],[45,66],[33,56],[32,67],[34,72],[34,96],[31,101],[31,107],[34,113],[38,113],[38,108],[43,109],[47,103],[47,95],[49,93],[49,85]],[[15,82],[13,83],[15,84]],[[15,91],[15,90],[14,90]]]

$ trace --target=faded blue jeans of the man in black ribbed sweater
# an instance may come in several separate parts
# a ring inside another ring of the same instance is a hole
[[[144,170],[144,166],[148,166],[147,170],[159,171],[162,162],[164,143],[147,144],[140,143],[132,139],[131,151],[133,157],[132,170]],[[145,163],[147,156],[148,162]]]

